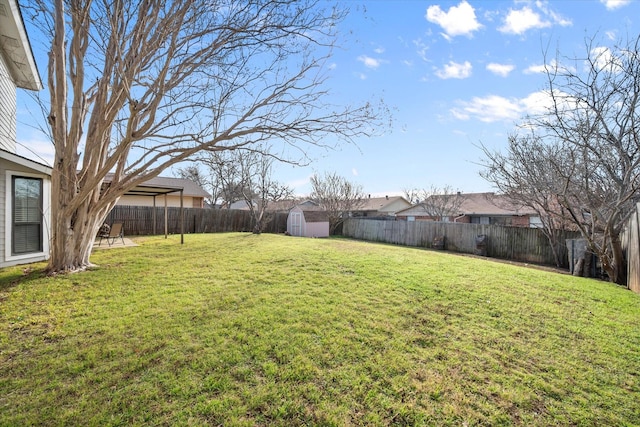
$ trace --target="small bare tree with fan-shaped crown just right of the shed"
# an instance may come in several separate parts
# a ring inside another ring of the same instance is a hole
[[[364,205],[362,186],[349,182],[335,172],[312,176],[311,187],[311,198],[327,211],[330,234],[334,234],[351,212]]]

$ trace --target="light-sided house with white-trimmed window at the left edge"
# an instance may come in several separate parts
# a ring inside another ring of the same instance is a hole
[[[0,0],[0,267],[49,258],[51,168],[16,154],[16,90],[41,90],[16,0]]]

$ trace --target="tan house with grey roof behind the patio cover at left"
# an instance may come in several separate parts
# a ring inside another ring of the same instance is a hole
[[[112,175],[108,174],[104,179],[105,185],[108,185],[111,179]],[[211,197],[202,187],[189,179],[158,176],[128,191],[120,197],[116,205],[154,206],[155,203],[155,206],[162,207],[166,194],[168,207],[180,207],[180,190],[185,208],[204,208],[205,198]]]

